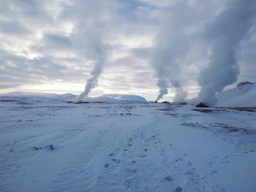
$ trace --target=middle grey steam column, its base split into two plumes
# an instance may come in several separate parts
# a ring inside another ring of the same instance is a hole
[[[174,101],[184,101],[187,92],[182,88],[181,68],[178,59],[187,54],[189,43],[185,28],[187,21],[183,15],[184,9],[171,15],[167,12],[162,26],[157,34],[151,63],[157,75],[159,94],[156,101],[168,93],[168,88],[176,90]]]

